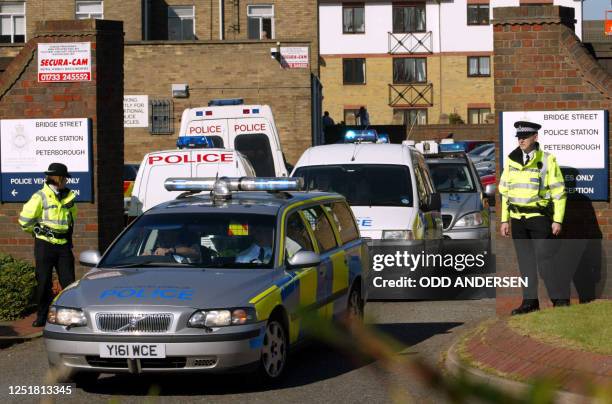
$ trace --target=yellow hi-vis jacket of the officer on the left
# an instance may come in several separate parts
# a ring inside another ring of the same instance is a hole
[[[49,243],[66,244],[77,216],[77,208],[74,203],[76,194],[73,191],[64,190],[60,195],[61,200],[60,196],[56,195],[47,184],[40,191],[35,192],[23,205],[19,214],[21,228],[28,233],[34,232],[36,238]],[[36,233],[34,227],[41,227],[42,231]]]

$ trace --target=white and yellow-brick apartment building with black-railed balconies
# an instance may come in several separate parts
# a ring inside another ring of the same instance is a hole
[[[523,4],[553,1],[321,0],[323,109],[346,124],[361,106],[375,125],[492,122],[493,8]],[[581,2],[554,4],[580,36]]]

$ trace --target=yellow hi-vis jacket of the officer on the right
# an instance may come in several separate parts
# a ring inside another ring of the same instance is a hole
[[[541,216],[547,209],[552,213],[554,222],[563,222],[566,201],[563,175],[555,156],[540,150],[539,145],[536,145],[534,157],[527,165],[523,165],[520,148],[508,155],[499,181],[499,193],[502,222],[507,222],[508,217]],[[549,206],[551,203],[552,206]],[[521,208],[526,209],[521,212]]]

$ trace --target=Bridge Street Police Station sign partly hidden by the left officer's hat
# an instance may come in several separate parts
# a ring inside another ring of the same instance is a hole
[[[27,201],[42,188],[44,172],[55,162],[68,167],[68,188],[76,200],[93,201],[89,119],[0,120],[2,202]]]

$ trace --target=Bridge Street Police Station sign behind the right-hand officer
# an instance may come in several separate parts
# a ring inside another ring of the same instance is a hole
[[[518,146],[514,128],[516,121],[542,125],[538,142],[543,151],[557,158],[565,177],[568,197],[608,200],[608,111],[501,112],[502,167],[503,159]]]

